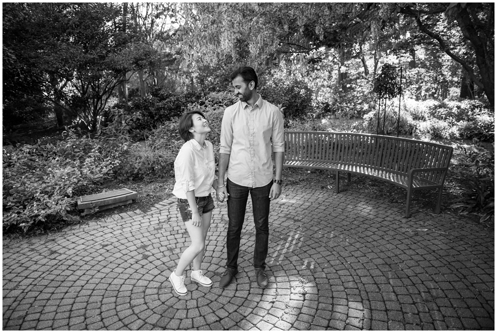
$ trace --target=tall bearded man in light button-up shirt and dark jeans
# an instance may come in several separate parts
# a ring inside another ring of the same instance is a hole
[[[219,201],[223,201],[223,196],[228,199],[229,223],[227,269],[219,286],[228,286],[238,273],[240,237],[250,193],[255,224],[253,266],[258,286],[265,288],[268,283],[264,269],[269,239],[269,203],[281,194],[283,116],[277,106],[257,93],[257,75],[252,68],[236,70],[231,80],[240,100],[225,110],[221,125],[216,195]],[[271,153],[274,153],[275,161],[274,180]]]

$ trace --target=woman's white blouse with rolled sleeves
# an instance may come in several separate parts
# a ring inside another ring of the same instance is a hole
[[[212,144],[205,140],[204,146],[191,139],[183,144],[174,161],[176,183],[172,194],[186,199],[186,192],[194,190],[195,196],[208,196],[214,179],[216,164]]]

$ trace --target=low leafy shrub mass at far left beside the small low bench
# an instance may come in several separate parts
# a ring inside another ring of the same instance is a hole
[[[122,150],[114,140],[78,138],[73,132],[56,145],[4,150],[3,230],[73,219],[75,197],[110,177]]]

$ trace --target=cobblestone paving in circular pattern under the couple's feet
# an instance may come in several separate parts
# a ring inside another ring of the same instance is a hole
[[[202,266],[214,285],[190,283],[188,271],[183,297],[167,277],[189,237],[169,201],[4,241],[2,328],[494,330],[494,235],[447,213],[403,214],[354,189],[286,187],[272,203],[268,287],[251,267],[250,213],[240,273],[223,290],[217,203]]]

